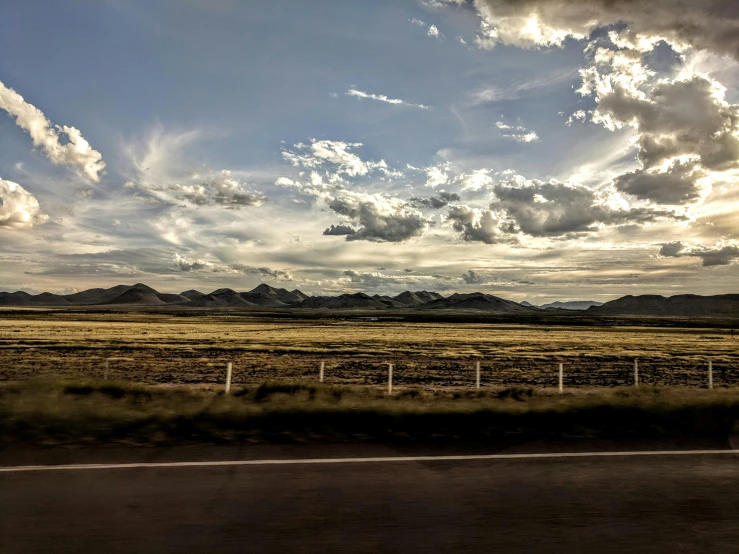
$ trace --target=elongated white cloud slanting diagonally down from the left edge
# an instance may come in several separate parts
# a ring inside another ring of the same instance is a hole
[[[100,181],[105,171],[103,156],[90,146],[78,129],[52,126],[41,110],[2,82],[0,108],[15,117],[16,125],[31,135],[34,146],[41,148],[51,163],[72,166],[91,181]]]

